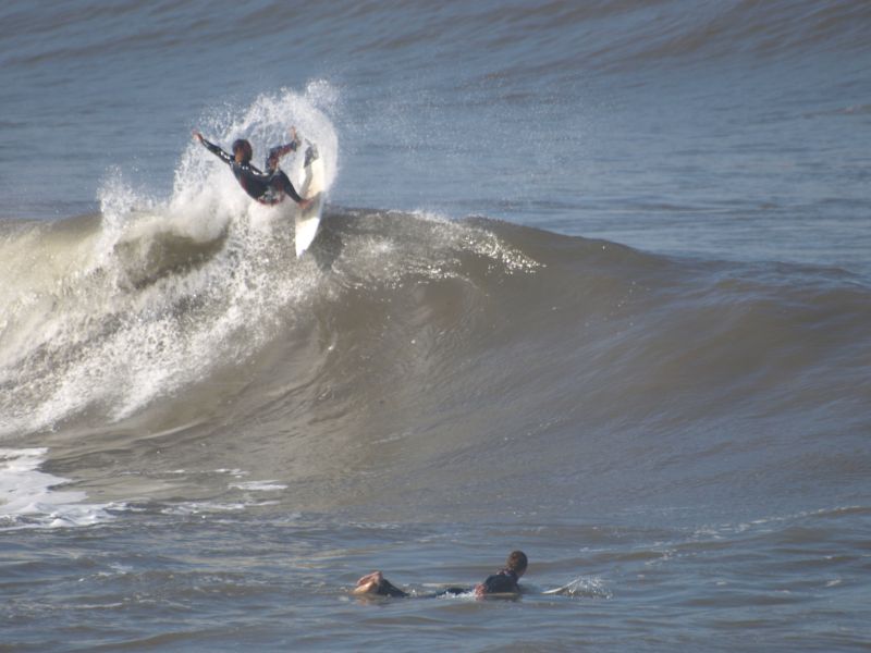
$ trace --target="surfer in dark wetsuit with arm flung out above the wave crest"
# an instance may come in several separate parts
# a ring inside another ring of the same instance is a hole
[[[254,199],[265,205],[275,205],[284,199],[284,196],[290,196],[299,207],[305,210],[311,204],[310,199],[303,199],[293,187],[291,180],[287,175],[279,169],[279,160],[286,153],[296,151],[299,147],[299,138],[296,135],[296,130],[291,130],[291,140],[286,145],[279,145],[269,150],[266,157],[266,171],[261,172],[252,165],[252,144],[240,138],[233,141],[233,156],[222,150],[213,143],[209,143],[203,137],[199,132],[194,132],[194,138],[199,140],[204,147],[221,159],[224,163],[230,165],[233,175],[238,181],[242,188],[252,196]],[[308,153],[306,155],[309,156]]]

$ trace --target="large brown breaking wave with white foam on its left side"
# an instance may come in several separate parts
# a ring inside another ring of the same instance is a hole
[[[394,519],[457,518],[470,489],[747,510],[812,479],[824,502],[867,463],[827,453],[867,435],[871,303],[849,274],[487,219],[333,209],[324,225],[299,260],[286,215],[256,210],[197,236],[169,210],[114,241],[96,217],[22,225],[22,268],[56,269],[22,274],[3,311],[3,440],[51,446],[119,501],[134,470],[154,501],[241,468],[294,509]]]

